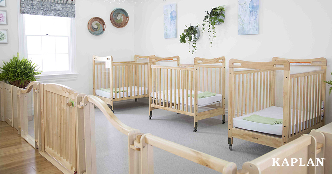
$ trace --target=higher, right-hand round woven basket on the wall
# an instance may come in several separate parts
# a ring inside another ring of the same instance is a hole
[[[114,27],[123,28],[128,24],[128,13],[122,8],[116,8],[111,13],[111,22]]]

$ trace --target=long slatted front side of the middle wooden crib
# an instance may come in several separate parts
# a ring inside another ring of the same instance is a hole
[[[193,108],[191,107],[194,98],[194,68],[157,65],[150,65],[150,68],[150,83],[152,85],[151,106],[155,108],[163,106],[170,111],[194,116]],[[182,93],[182,95],[176,95],[176,93]],[[190,99],[186,97],[188,94],[190,94]],[[179,103],[183,103],[181,107]]]

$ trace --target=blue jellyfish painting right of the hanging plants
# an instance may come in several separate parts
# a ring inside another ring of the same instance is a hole
[[[238,0],[238,3],[238,34],[258,34],[259,0]]]

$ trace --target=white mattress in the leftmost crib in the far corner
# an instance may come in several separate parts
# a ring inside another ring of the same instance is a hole
[[[130,87],[128,88],[128,96],[135,96],[135,95],[141,95],[141,88],[142,88],[142,93],[144,94],[144,87],[131,87],[131,95],[130,95]],[[122,89],[122,87],[121,87]],[[124,87],[124,90],[126,90],[127,87]],[[145,87],[145,94],[148,94],[148,88]],[[105,98],[111,98],[111,92],[106,92],[100,89],[96,90],[96,95],[105,97]],[[117,93],[117,98],[122,98],[122,97],[127,97],[127,91],[124,92],[118,92]],[[115,93],[113,93],[113,98],[115,98]]]

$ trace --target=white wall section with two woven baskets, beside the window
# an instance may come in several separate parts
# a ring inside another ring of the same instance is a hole
[[[129,15],[129,23],[124,28],[116,28],[110,21],[115,8],[124,8]],[[76,69],[79,76],[76,81],[56,82],[72,87],[79,92],[92,94],[92,56],[113,56],[113,61],[134,59],[134,23],[133,6],[127,4],[106,3],[102,0],[76,1]],[[106,23],[106,30],[100,36],[90,34],[87,29],[92,17],[100,17]]]

